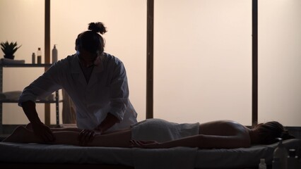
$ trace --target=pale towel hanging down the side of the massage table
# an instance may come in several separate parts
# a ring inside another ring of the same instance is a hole
[[[134,149],[135,169],[193,169],[198,148]]]

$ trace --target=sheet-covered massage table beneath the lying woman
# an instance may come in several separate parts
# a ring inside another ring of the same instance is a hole
[[[301,139],[283,141],[300,157]],[[258,168],[271,166],[277,143],[238,149],[141,149],[0,142],[0,168]]]

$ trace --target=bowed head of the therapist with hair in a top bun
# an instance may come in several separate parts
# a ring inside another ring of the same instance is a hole
[[[107,32],[102,23],[89,23],[88,30],[78,35],[76,39],[76,51],[85,50],[90,54],[102,54],[105,41],[101,35]]]

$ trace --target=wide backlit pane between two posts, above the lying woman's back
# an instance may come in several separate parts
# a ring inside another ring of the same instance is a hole
[[[252,123],[251,5],[155,1],[155,118]]]

